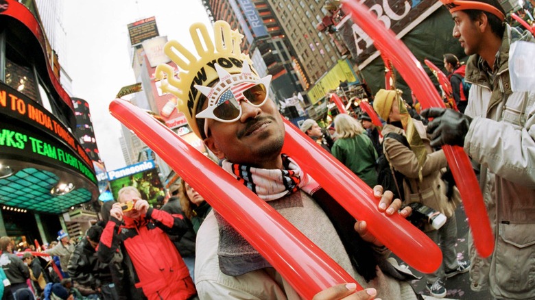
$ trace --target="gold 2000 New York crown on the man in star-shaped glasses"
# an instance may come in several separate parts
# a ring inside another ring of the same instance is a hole
[[[202,128],[198,127],[195,115],[198,113],[197,106],[202,93],[195,86],[209,86],[219,79],[221,70],[229,74],[241,73],[243,62],[250,66],[252,61],[249,55],[241,52],[239,45],[243,35],[230,29],[225,21],[214,23],[213,41],[203,23],[193,23],[189,27],[189,34],[198,57],[180,42],[170,40],[165,44],[164,52],[178,66],[178,76],[175,76],[172,66],[160,64],[156,67],[156,78],[161,80],[160,88],[163,92],[170,92],[177,97],[178,110],[185,114],[191,130],[201,137]],[[257,73],[254,68],[252,72]]]

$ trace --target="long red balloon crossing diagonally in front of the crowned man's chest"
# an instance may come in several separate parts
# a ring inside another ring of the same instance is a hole
[[[268,203],[171,129],[136,106],[115,99],[110,113],[165,160],[305,299],[336,284],[355,282]],[[355,282],[357,283],[357,282]],[[362,290],[357,284],[357,290]]]

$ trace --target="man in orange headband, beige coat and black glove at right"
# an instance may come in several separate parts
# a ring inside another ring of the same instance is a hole
[[[535,90],[513,91],[513,45],[533,36],[504,23],[498,0],[441,0],[467,55],[472,84],[465,114],[431,108],[431,146],[457,145],[480,164],[479,184],[495,232],[495,251],[471,249],[471,286],[497,299],[535,299]],[[534,54],[528,55],[533,60]],[[531,70],[533,73],[533,70]],[[485,217],[485,216],[481,216]]]

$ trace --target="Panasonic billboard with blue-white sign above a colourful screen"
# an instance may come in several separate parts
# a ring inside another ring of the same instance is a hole
[[[152,206],[156,205],[156,197],[165,196],[163,184],[158,176],[154,160],[145,160],[125,168],[108,171],[108,180],[113,199],[118,199],[119,190],[125,186],[134,186],[139,190],[141,198]]]

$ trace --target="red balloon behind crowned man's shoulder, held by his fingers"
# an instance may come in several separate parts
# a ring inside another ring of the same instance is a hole
[[[370,232],[404,262],[423,273],[432,273],[442,264],[442,252],[435,242],[399,214],[379,212],[373,190],[318,146],[292,123],[285,120],[283,153],[292,157],[358,220],[366,221]]]

